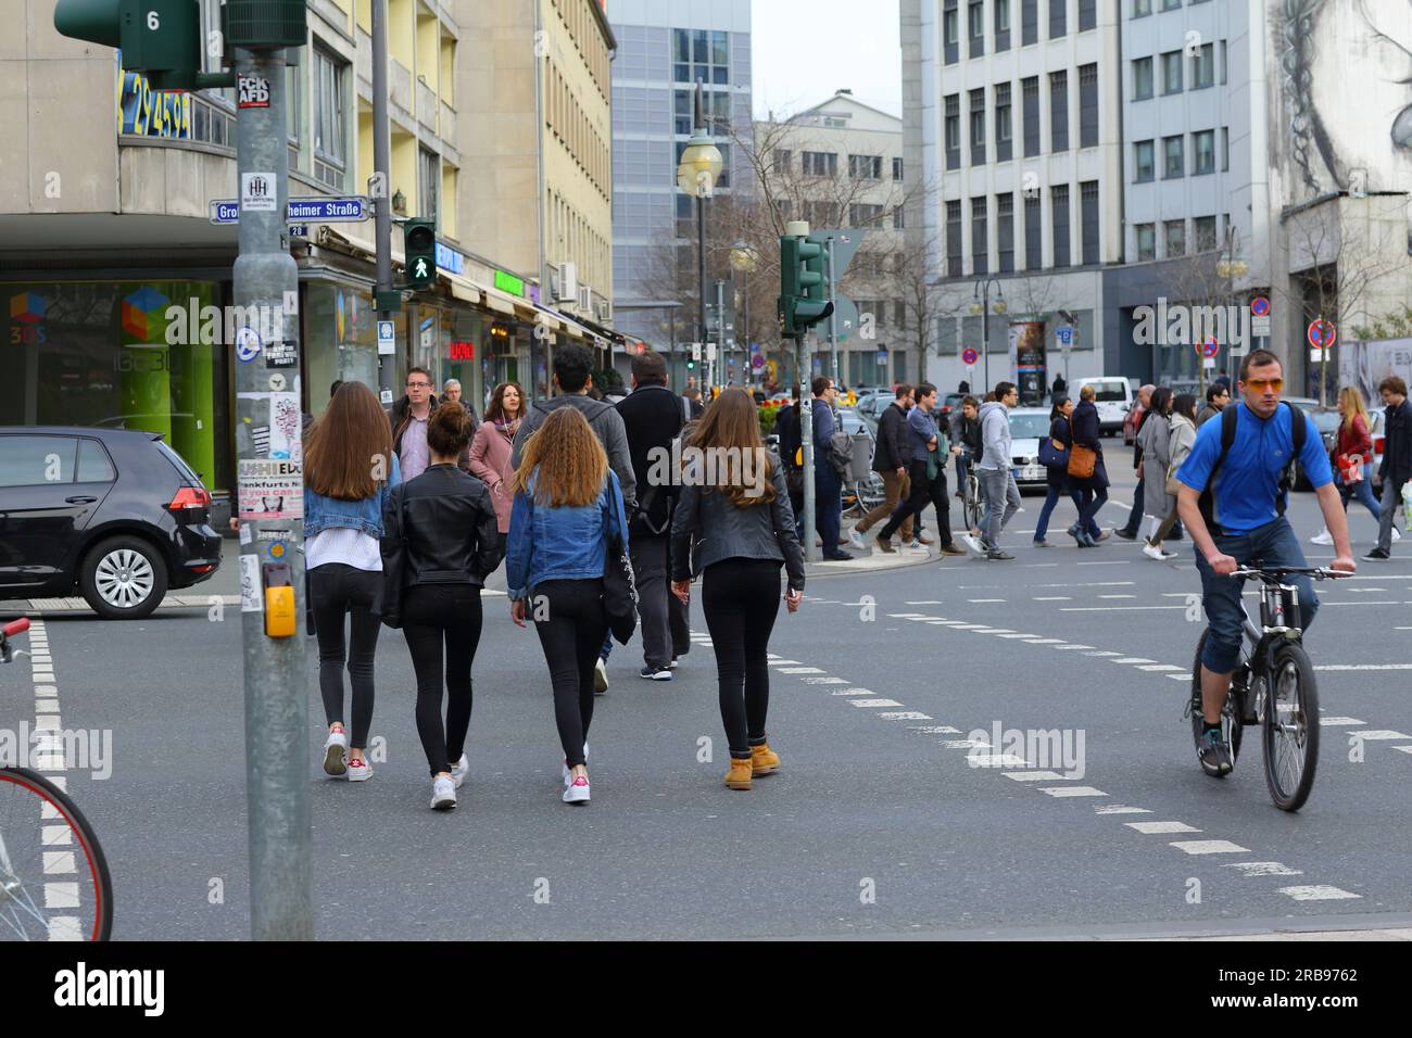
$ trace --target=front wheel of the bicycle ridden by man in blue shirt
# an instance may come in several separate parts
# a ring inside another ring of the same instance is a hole
[[[1319,765],[1319,689],[1298,643],[1275,650],[1265,692],[1265,784],[1281,811],[1309,799]]]

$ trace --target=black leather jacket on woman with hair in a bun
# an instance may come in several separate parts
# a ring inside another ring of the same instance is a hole
[[[504,551],[486,484],[453,465],[433,465],[393,487],[383,508],[383,556],[407,539],[407,586],[481,586]]]

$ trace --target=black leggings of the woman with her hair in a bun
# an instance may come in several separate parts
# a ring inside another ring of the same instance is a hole
[[[418,583],[402,602],[402,637],[417,671],[417,734],[432,775],[450,771],[470,729],[470,665],[480,644],[480,587],[469,583]],[[442,644],[446,647],[445,668]],[[442,675],[446,723],[442,724]]]

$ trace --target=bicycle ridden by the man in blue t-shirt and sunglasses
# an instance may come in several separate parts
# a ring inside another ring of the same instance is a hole
[[[1265,785],[1281,811],[1299,811],[1315,784],[1319,765],[1319,688],[1315,668],[1303,648],[1299,593],[1281,579],[1308,573],[1316,580],[1348,576],[1317,566],[1272,566],[1260,563],[1231,573],[1241,580],[1260,580],[1260,627],[1245,612],[1244,643],[1231,675],[1230,693],[1221,706],[1221,736],[1231,747],[1231,761],[1240,757],[1241,730],[1264,726]],[[1241,603],[1244,609],[1244,603]],[[1192,737],[1202,744],[1202,652],[1210,630],[1202,631],[1192,664],[1192,696],[1186,715]],[[1272,689],[1272,691],[1271,691]]]

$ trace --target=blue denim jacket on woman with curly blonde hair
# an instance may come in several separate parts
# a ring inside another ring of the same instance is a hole
[[[531,489],[537,475],[530,477]],[[530,589],[545,580],[603,576],[607,535],[613,528],[618,530],[626,551],[623,489],[611,469],[593,504],[551,508],[535,503],[531,494],[515,494],[505,547],[505,583],[511,602],[528,597]]]

